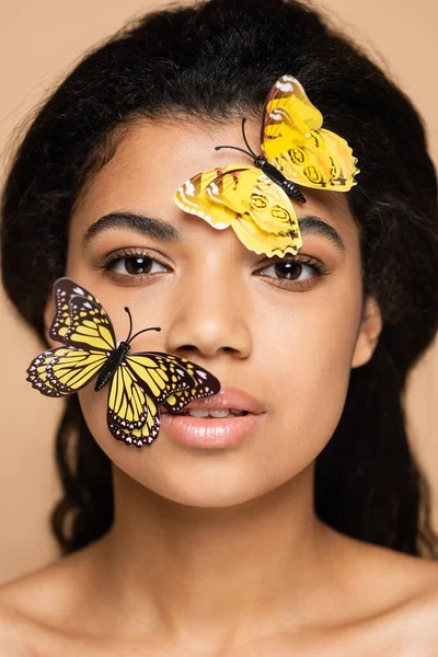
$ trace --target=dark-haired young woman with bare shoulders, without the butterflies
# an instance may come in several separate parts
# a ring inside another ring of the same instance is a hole
[[[360,173],[346,194],[306,188],[301,249],[267,257],[174,194],[251,164],[215,147],[242,145],[244,116],[258,154],[283,74]],[[402,393],[437,331],[437,181],[420,119],[384,73],[296,0],[148,14],[41,108],[2,221],[4,287],[50,347],[51,286],[69,276],[118,337],[125,306],[136,330],[161,326],[137,351],[220,380],[194,415],[212,411],[214,427],[231,408],[252,428],[193,445],[163,422],[136,449],[108,431],[105,391],[69,397],[62,558],[1,589],[1,654],[436,656],[438,542]]]

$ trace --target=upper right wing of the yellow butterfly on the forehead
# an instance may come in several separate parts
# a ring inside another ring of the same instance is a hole
[[[268,94],[262,151],[287,178],[313,188],[347,192],[356,185],[357,159],[348,142],[322,128],[321,112],[300,82],[283,76]]]

